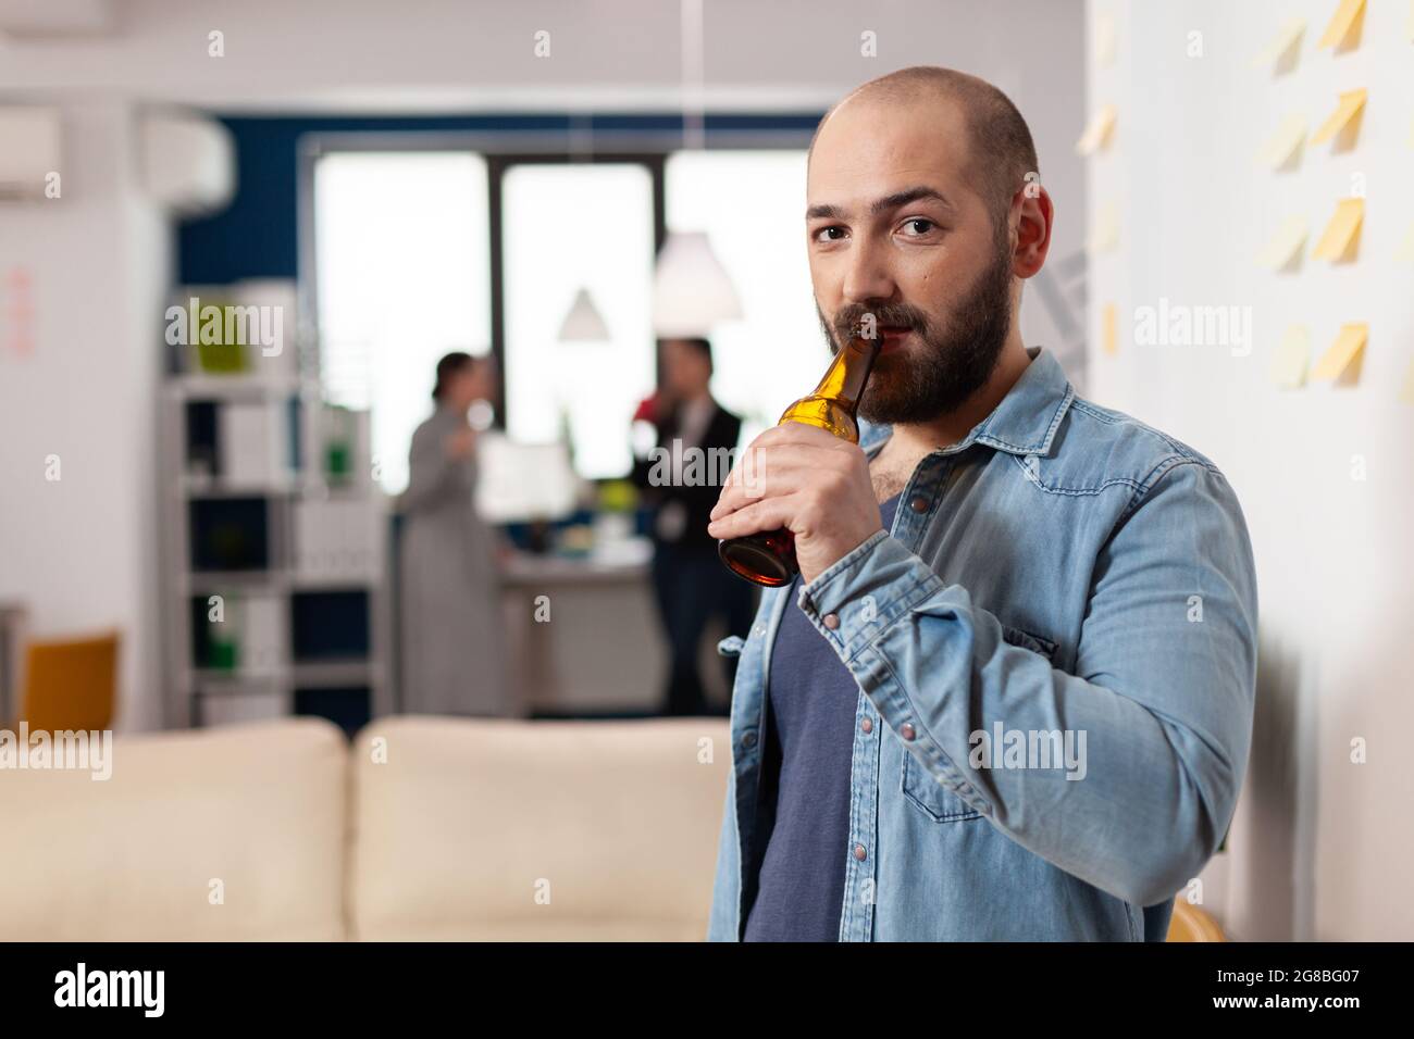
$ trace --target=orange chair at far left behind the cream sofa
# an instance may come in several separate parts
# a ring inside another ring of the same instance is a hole
[[[117,640],[115,630],[90,639],[28,643],[16,725],[25,721],[31,732],[110,728],[117,700]]]

